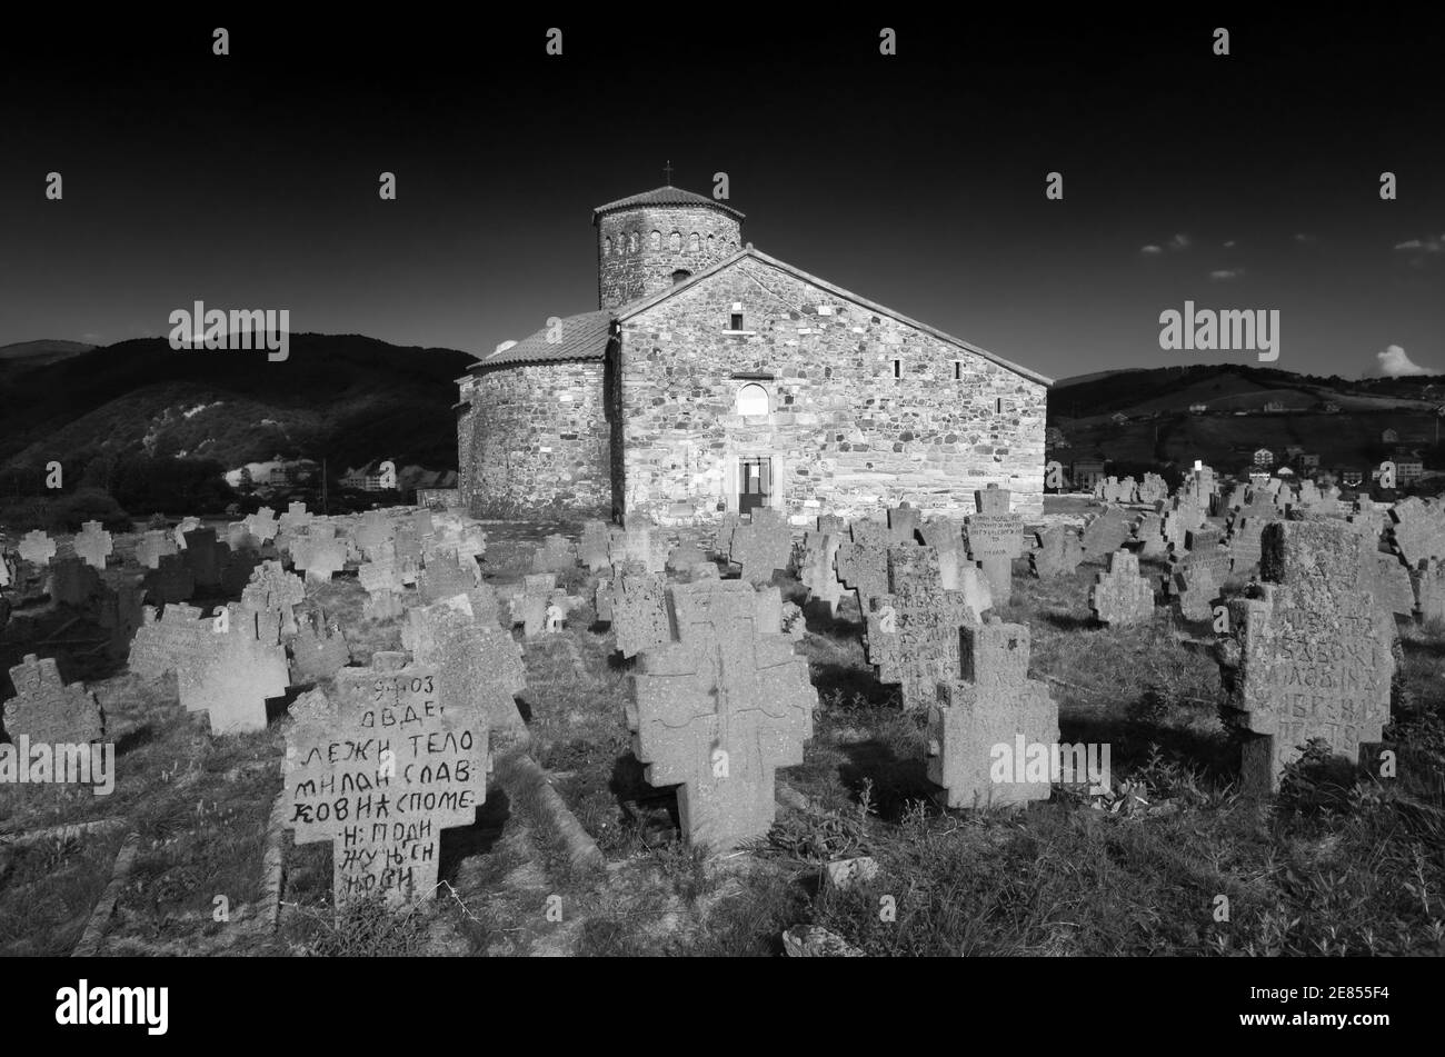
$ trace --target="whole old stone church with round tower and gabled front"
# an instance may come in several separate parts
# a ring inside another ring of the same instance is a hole
[[[725,202],[663,186],[592,222],[598,309],[458,381],[474,516],[962,517],[988,484],[1040,513],[1049,378],[754,250]]]

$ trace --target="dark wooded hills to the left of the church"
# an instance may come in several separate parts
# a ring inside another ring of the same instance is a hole
[[[449,469],[455,380],[473,362],[455,349],[322,334],[290,335],[280,362],[264,351],[175,351],[165,338],[42,365],[4,357],[0,466],[149,453],[227,468],[282,455]]]

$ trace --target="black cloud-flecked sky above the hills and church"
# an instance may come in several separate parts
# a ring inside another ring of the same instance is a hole
[[[728,173],[760,250],[1052,377],[1256,362],[1162,351],[1185,299],[1277,309],[1274,367],[1445,371],[1442,36],[1407,17],[475,10],[9,25],[0,344],[165,335],[202,299],[484,354],[597,306],[591,208],[670,159]]]

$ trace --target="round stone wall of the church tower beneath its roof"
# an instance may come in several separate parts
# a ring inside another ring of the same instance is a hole
[[[597,306],[617,308],[666,290],[675,271],[696,274],[740,250],[741,238],[736,217],[705,205],[604,214],[597,221]]]

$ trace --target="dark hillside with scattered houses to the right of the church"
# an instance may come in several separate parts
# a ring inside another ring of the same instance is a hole
[[[1049,425],[1069,442],[1051,458],[1204,459],[1233,469],[1257,448],[1283,459],[1286,448],[1299,446],[1327,469],[1364,466],[1384,456],[1386,429],[1402,446],[1435,448],[1442,404],[1445,375],[1347,380],[1243,364],[1082,375],[1049,391]],[[1126,422],[1114,422],[1116,414]]]

